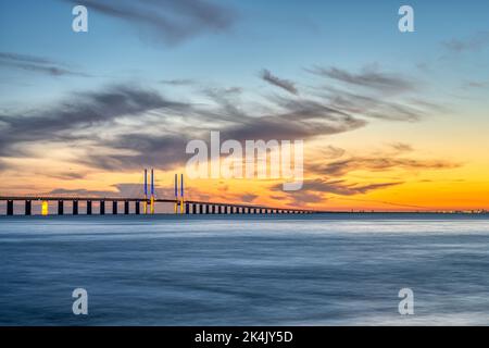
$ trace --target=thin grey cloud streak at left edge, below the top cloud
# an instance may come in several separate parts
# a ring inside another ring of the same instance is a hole
[[[1,65],[35,73],[42,73],[50,76],[89,76],[88,74],[73,71],[63,63],[54,62],[46,58],[11,52],[0,52],[0,66]]]

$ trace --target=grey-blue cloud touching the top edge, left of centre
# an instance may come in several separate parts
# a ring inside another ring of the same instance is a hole
[[[208,0],[65,0],[120,18],[153,39],[177,45],[203,33],[228,30],[235,11]]]

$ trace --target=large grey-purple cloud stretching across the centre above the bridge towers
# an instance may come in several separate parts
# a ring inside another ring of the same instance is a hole
[[[165,127],[126,130],[117,136],[97,138],[95,141],[100,150],[91,151],[90,156],[79,159],[79,162],[108,171],[137,170],[148,165],[172,169],[184,164],[188,159],[189,156],[185,153],[188,141],[206,139],[211,129],[221,130],[222,141],[296,140],[349,132],[366,124],[363,120],[310,100],[278,99],[281,112],[252,116],[233,102],[235,91],[206,89],[205,94],[217,103],[210,110],[187,104],[179,119],[172,116],[175,110],[168,110],[165,115],[159,112],[155,114],[158,120],[170,117],[158,122],[166,124]],[[211,124],[204,126],[206,121]]]

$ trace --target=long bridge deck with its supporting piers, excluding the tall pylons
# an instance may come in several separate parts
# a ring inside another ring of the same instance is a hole
[[[7,215],[13,215],[14,201],[24,201],[24,214],[32,215],[33,201],[58,201],[58,214],[64,214],[64,202],[72,202],[72,214],[78,214],[78,202],[85,201],[87,214],[91,215],[92,202],[99,202],[99,214],[105,214],[105,202],[112,202],[112,214],[117,214],[117,203],[124,202],[124,214],[129,214],[129,202],[134,203],[134,213],[140,214],[140,203],[146,202],[149,210],[150,199],[130,197],[68,197],[68,196],[0,196],[0,201],[7,201]],[[197,200],[162,199],[155,198],[154,202],[177,204],[180,213],[185,214],[311,214],[318,211],[293,208],[273,208],[243,203],[205,202]],[[181,204],[183,203],[183,204]],[[181,206],[181,207],[180,207]]]

